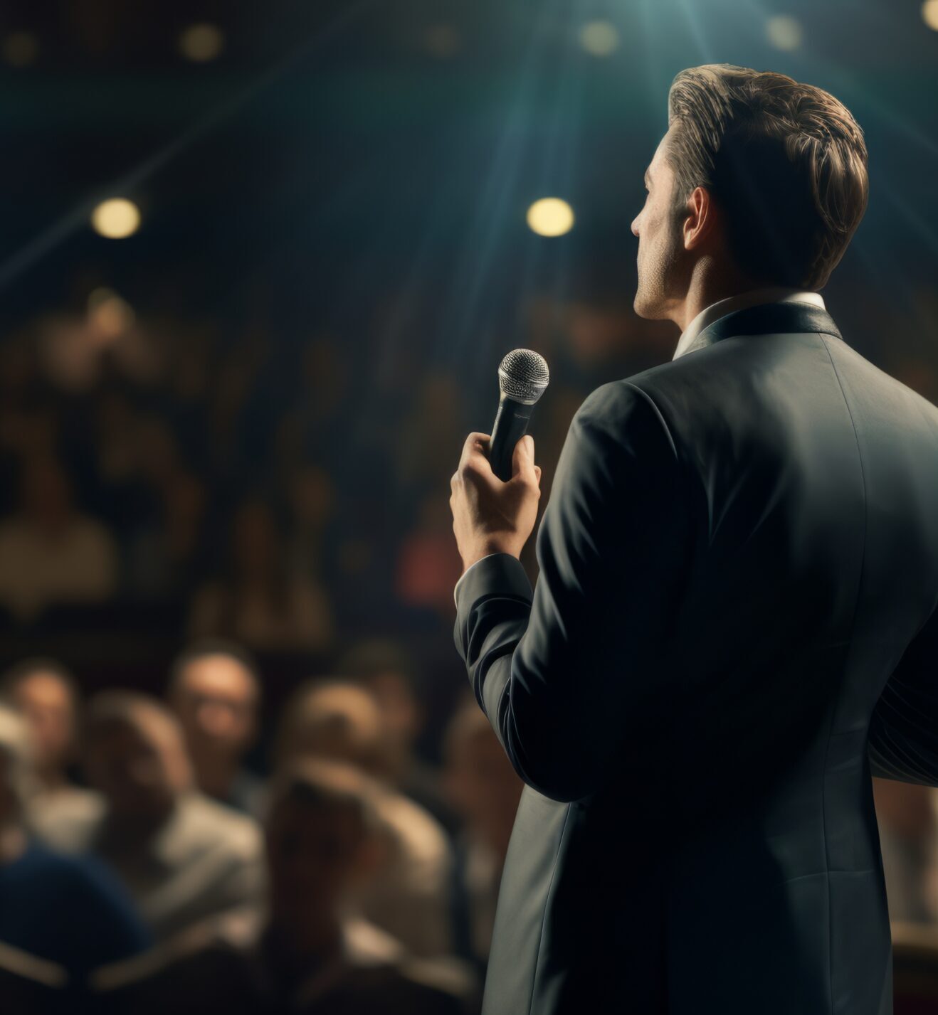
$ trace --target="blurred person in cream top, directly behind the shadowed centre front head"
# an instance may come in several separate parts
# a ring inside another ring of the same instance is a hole
[[[376,806],[386,859],[380,876],[362,888],[361,912],[414,955],[448,953],[450,845],[440,823],[388,777],[388,740],[375,698],[345,680],[300,687],[284,709],[275,752],[278,767],[327,758],[353,764],[379,781]]]

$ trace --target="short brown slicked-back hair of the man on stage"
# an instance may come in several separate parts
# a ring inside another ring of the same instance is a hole
[[[708,64],[674,78],[668,123],[675,199],[710,191],[733,257],[757,280],[821,288],[869,195],[866,142],[847,107],[785,74]]]

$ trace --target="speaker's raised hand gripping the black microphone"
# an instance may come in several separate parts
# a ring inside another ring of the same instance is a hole
[[[470,433],[459,468],[450,481],[453,531],[463,570],[489,553],[521,556],[534,529],[541,496],[541,470],[534,464],[534,437],[515,445],[512,478],[504,483],[491,471],[487,433]]]

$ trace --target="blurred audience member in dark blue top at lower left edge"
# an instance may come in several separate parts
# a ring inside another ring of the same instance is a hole
[[[78,983],[141,952],[149,935],[112,874],[30,834],[35,783],[22,718],[0,705],[0,943],[60,965]],[[0,999],[0,1009],[7,1011]]]

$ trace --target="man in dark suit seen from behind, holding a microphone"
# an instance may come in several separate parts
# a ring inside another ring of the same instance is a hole
[[[833,96],[681,72],[632,223],[674,358],[453,477],[456,641],[527,784],[485,1015],[884,1015],[870,774],[938,782],[938,409],[818,294],[867,201]]]

